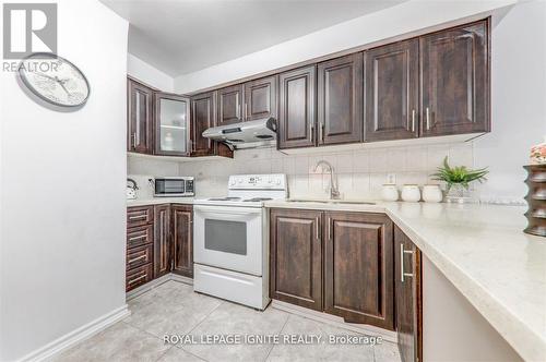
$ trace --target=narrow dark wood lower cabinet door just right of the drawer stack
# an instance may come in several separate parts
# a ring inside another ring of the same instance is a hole
[[[154,278],[170,272],[170,205],[154,206]]]

